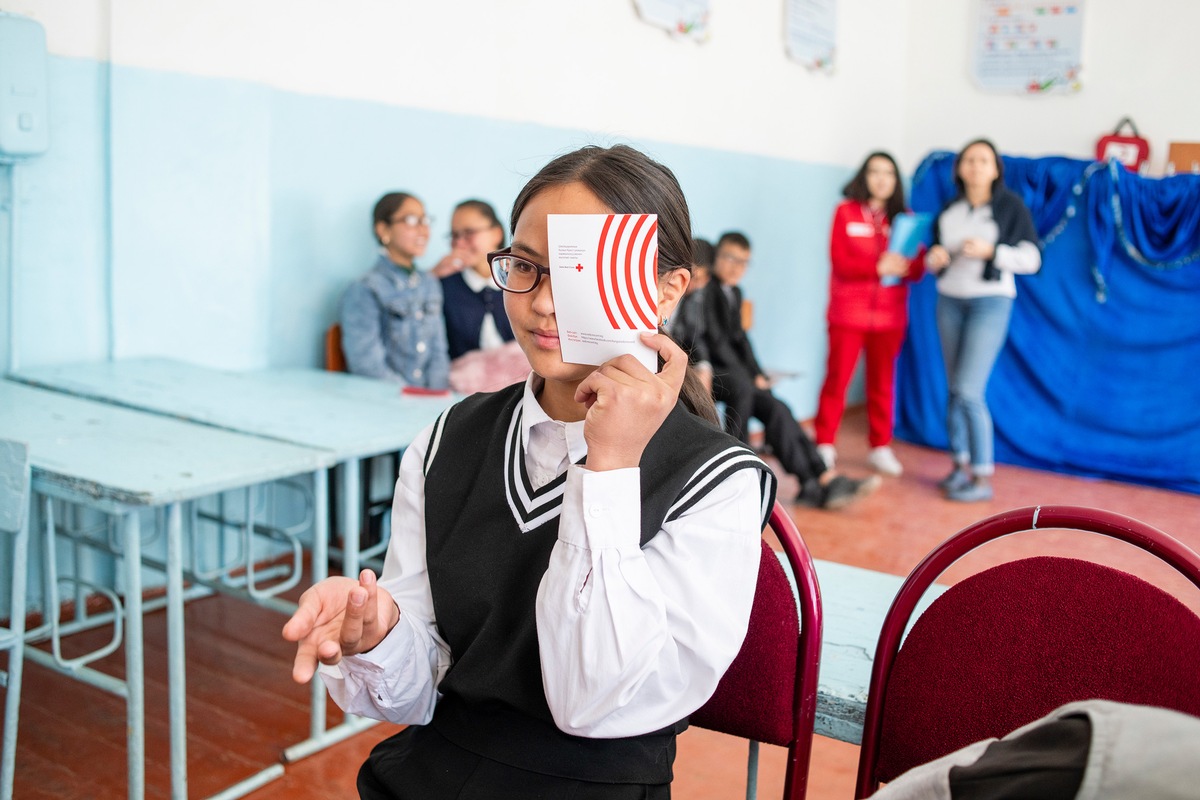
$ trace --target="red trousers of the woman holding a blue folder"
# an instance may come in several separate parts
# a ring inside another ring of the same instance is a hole
[[[829,326],[829,362],[817,405],[818,445],[832,445],[846,409],[846,387],[854,374],[858,354],[866,350],[866,422],[872,447],[892,441],[893,397],[896,356],[904,344],[904,329],[863,331]]]

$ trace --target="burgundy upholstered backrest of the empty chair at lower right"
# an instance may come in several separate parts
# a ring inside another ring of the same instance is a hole
[[[1103,698],[1200,716],[1200,616],[1146,581],[1092,561],[1033,557],[994,566],[950,587],[905,637],[917,602],[946,567],[994,539],[1038,529],[1120,539],[1200,588],[1200,555],[1108,511],[1019,509],[959,531],[912,571],[884,618],[857,798],[1072,700]]]

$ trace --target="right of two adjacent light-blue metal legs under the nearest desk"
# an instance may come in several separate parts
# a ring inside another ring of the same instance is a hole
[[[170,724],[170,796],[187,800],[187,670],[184,655],[184,523],[167,507],[167,691]]]

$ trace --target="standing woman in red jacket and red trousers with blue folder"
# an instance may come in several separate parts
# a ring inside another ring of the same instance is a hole
[[[905,210],[904,182],[895,160],[872,152],[841,191],[829,234],[829,360],[815,422],[817,450],[826,464],[838,458],[834,438],[846,408],[846,387],[858,356],[866,350],[868,463],[877,473],[900,475],[892,451],[895,362],[908,325],[908,287],[924,275],[888,251],[892,221]]]

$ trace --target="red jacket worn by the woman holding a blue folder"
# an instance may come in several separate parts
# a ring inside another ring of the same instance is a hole
[[[845,200],[833,215],[829,234],[830,325],[866,331],[905,327],[908,324],[908,285],[880,283],[876,265],[888,248],[892,225],[875,221],[870,209],[857,200]],[[906,281],[918,281],[925,272],[923,255],[908,266]]]

